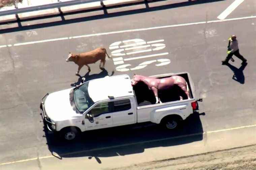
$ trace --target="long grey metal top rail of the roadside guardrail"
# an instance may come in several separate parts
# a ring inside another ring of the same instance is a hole
[[[11,10],[6,10],[6,11],[0,11],[0,16],[18,14],[18,13],[24,13],[24,12],[31,12],[31,11],[38,11],[38,10],[43,10],[43,9],[60,8],[60,7],[64,7],[64,6],[79,5],[79,4],[98,2],[98,1],[99,0],[72,0],[72,1],[57,2],[57,3],[52,3],[52,4],[46,4],[46,5],[25,7],[25,8],[20,8],[20,9],[11,9]]]

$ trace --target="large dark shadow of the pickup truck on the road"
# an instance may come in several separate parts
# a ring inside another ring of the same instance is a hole
[[[56,135],[47,133],[45,136],[49,151],[59,159],[63,157],[99,157],[123,156],[143,153],[146,148],[167,147],[200,141],[203,129],[199,113],[190,115],[183,127],[176,131],[168,131],[156,124],[138,124],[92,130],[83,132],[75,142],[62,142]]]

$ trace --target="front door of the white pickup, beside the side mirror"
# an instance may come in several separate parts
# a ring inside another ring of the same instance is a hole
[[[110,102],[97,104],[89,112],[93,116],[93,122],[85,119],[85,129],[94,130],[113,126],[112,113],[110,110]]]

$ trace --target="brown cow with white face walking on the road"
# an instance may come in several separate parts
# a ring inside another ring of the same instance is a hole
[[[92,50],[90,52],[85,52],[81,54],[72,54],[69,52],[68,58],[66,59],[67,62],[74,61],[78,65],[78,70],[75,75],[79,74],[80,69],[86,65],[88,67],[88,70],[91,71],[91,68],[88,66],[88,64],[92,64],[100,60],[100,68],[104,68],[105,62],[106,62],[106,54],[107,51],[105,48],[96,48],[95,50]],[[107,54],[108,58],[109,55]],[[103,63],[101,67],[101,63]]]

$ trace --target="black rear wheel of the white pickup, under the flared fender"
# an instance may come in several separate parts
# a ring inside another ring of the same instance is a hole
[[[164,129],[176,130],[181,127],[182,119],[176,116],[166,117],[161,121],[161,126]]]

